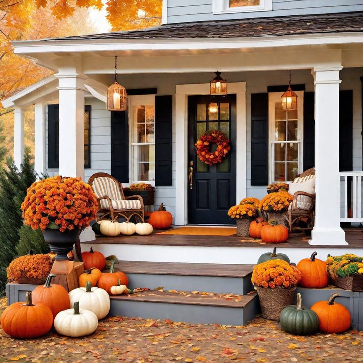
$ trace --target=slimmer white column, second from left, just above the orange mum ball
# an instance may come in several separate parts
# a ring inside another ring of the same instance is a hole
[[[45,105],[34,105],[34,169],[41,177],[45,173]]]

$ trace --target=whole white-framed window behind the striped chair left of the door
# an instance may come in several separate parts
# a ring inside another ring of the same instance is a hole
[[[130,96],[131,179],[155,181],[155,96]]]

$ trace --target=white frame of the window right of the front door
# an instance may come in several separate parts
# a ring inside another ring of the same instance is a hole
[[[297,99],[297,119],[298,119],[298,130],[297,130],[297,142],[298,145],[298,173],[303,172],[303,155],[304,155],[304,91],[295,91],[298,99]],[[275,158],[274,158],[274,144],[275,143],[275,102],[281,100],[281,95],[283,92],[270,92],[268,94],[268,120],[269,120],[269,183],[279,182],[274,181],[275,175]],[[291,140],[291,142],[296,142],[295,140]],[[284,143],[288,144],[289,141],[285,141]],[[292,181],[287,181],[290,183]]]

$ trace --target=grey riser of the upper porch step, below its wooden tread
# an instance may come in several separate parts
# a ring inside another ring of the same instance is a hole
[[[164,290],[205,291],[216,293],[233,293],[245,295],[253,290],[251,274],[242,277],[223,276],[185,276],[185,275],[154,275],[127,273],[129,287],[147,287],[154,289],[164,287]]]

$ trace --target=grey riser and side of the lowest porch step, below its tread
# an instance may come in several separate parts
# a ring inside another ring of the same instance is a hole
[[[110,315],[202,324],[244,325],[258,312],[258,298],[254,298],[244,308],[111,300]]]

